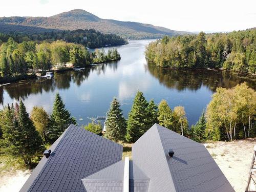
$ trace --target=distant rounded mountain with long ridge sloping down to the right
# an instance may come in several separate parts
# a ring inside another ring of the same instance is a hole
[[[130,39],[160,38],[164,35],[191,34],[190,32],[174,31],[150,24],[102,19],[81,9],[63,12],[50,17],[0,17],[0,26],[0,32],[17,30],[19,32],[27,32],[24,26],[28,26],[28,30],[32,30],[33,32],[41,32],[43,29],[95,29],[102,33],[116,33],[117,35]]]

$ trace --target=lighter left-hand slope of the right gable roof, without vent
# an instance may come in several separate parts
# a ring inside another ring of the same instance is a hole
[[[175,191],[156,124],[132,146],[133,161],[150,178],[148,191]]]

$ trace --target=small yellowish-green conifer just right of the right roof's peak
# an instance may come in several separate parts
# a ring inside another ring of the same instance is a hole
[[[173,128],[173,124],[174,124],[173,112],[172,112],[172,109],[170,109],[166,100],[161,100],[161,102],[159,103],[158,113],[159,113],[159,116],[158,116],[159,124],[169,130],[175,131]]]

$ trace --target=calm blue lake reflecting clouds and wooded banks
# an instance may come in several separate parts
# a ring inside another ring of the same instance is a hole
[[[152,40],[133,40],[116,47],[121,60],[84,72],[55,73],[53,79],[24,80],[0,88],[0,108],[21,97],[30,112],[35,105],[44,106],[50,114],[59,92],[67,109],[80,125],[89,118],[105,116],[113,97],[121,103],[125,118],[138,90],[146,99],[159,103],[166,99],[172,109],[182,105],[189,124],[195,123],[211,100],[217,87],[231,88],[247,81],[255,89],[256,79],[224,71],[163,69],[147,65],[145,46]],[[106,48],[108,50],[109,48]]]

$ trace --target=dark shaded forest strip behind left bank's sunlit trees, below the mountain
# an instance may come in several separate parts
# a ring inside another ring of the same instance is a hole
[[[51,31],[44,33],[0,33],[1,42],[7,42],[12,37],[16,42],[23,41],[43,41],[49,42],[56,40],[63,40],[66,42],[73,42],[88,48],[99,48],[105,46],[118,46],[127,44],[127,41],[115,34],[103,34],[93,29],[90,30],[75,30],[75,31]]]

